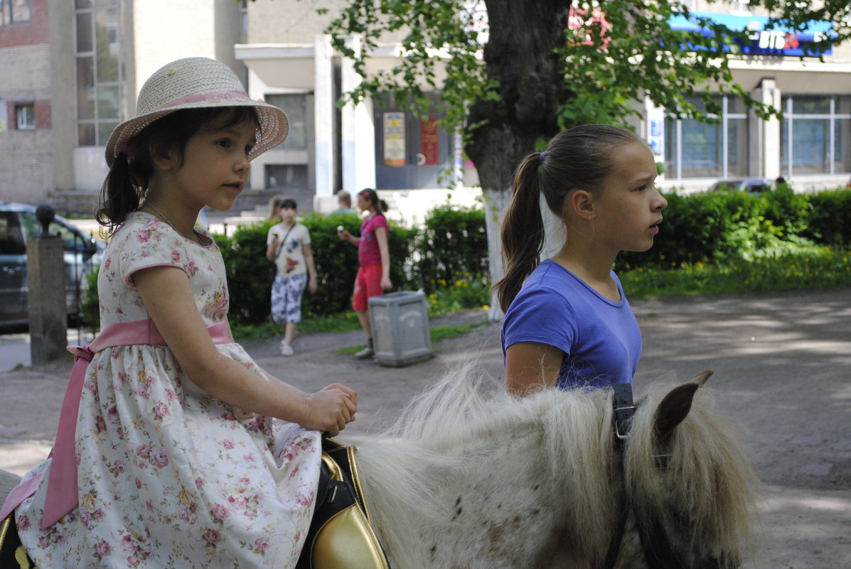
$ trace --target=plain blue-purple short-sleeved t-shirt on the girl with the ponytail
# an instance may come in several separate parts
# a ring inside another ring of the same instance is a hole
[[[502,356],[512,344],[540,342],[565,354],[557,385],[632,384],[641,356],[641,330],[620,280],[620,302],[609,300],[555,261],[538,265],[502,322]]]

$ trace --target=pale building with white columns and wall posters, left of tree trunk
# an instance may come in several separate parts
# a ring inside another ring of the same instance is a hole
[[[235,53],[248,68],[249,94],[280,105],[290,119],[289,138],[254,162],[252,185],[282,192],[310,187],[320,211],[336,207],[333,196],[340,189],[354,193],[373,187],[383,191],[391,208],[414,213],[445,202],[448,179],[474,185],[475,168],[461,158],[460,137],[437,127],[439,114],[414,117],[389,101],[338,107],[340,94],[358,77],[351,60],[323,35],[345,2],[322,5],[328,14],[317,14],[316,3],[297,0],[248,4],[247,42]],[[369,61],[370,70],[387,69],[397,60],[394,39],[401,36],[383,38],[387,45]],[[359,39],[352,37],[350,45],[357,49]],[[431,92],[435,100],[437,95]],[[421,205],[404,203],[413,198],[411,191]],[[454,199],[471,203],[478,195],[466,187],[454,192]]]

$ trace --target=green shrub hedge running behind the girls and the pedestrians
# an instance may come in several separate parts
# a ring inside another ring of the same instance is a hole
[[[668,208],[654,247],[645,253],[621,253],[616,264],[619,270],[768,259],[813,244],[851,245],[851,189],[795,194],[780,188],[762,196],[711,192],[665,197]],[[360,218],[355,213],[308,213],[301,223],[311,232],[319,284],[316,294],[305,294],[303,317],[350,310],[357,250],[340,241],[337,226],[343,225],[357,235]],[[265,222],[240,227],[233,236],[214,235],[225,259],[231,290],[230,318],[235,325],[269,320],[266,232],[270,226],[271,222]],[[433,297],[450,289],[463,292],[459,287],[467,287],[472,293],[488,287],[488,242],[482,208],[435,208],[422,230],[391,221],[389,245],[394,290],[422,288]],[[87,298],[86,320],[96,323],[96,287],[89,287],[89,293],[94,297]]]

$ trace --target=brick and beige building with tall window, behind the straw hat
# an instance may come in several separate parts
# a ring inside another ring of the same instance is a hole
[[[233,0],[0,0],[0,200],[92,213],[146,78],[201,55],[246,77]]]

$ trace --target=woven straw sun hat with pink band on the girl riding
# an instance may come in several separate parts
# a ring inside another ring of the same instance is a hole
[[[164,65],[142,85],[136,116],[119,124],[106,143],[106,163],[111,168],[120,152],[129,151],[129,140],[157,118],[181,109],[227,106],[253,106],[257,112],[257,144],[248,154],[249,160],[287,138],[289,122],[281,109],[248,97],[227,65],[189,57]]]

